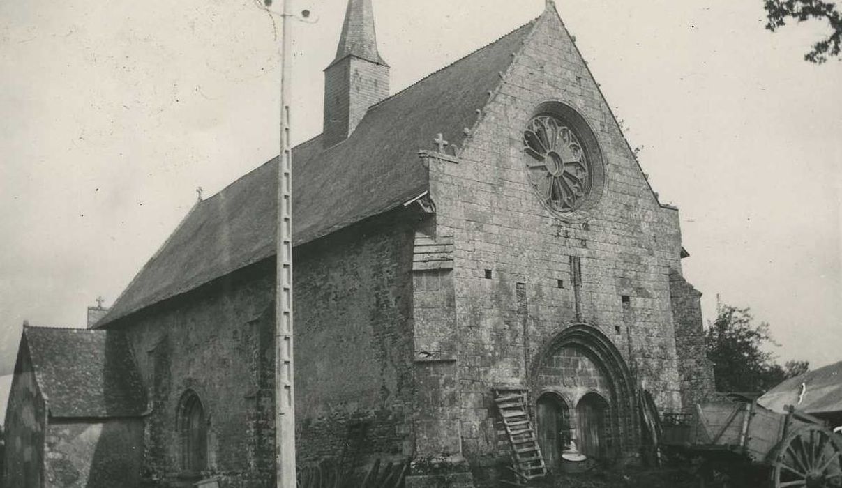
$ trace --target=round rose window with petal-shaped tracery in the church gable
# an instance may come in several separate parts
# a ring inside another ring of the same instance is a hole
[[[552,209],[569,212],[584,203],[593,172],[573,130],[552,115],[539,115],[524,130],[530,182]]]

